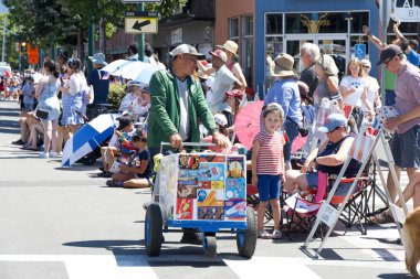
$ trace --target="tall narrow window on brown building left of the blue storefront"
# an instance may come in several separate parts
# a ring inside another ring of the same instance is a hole
[[[252,15],[242,17],[242,71],[248,86],[253,82],[253,19]]]

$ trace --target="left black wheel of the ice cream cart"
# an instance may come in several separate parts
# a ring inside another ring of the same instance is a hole
[[[161,243],[164,240],[162,217],[159,205],[150,204],[147,207],[145,223],[146,254],[149,257],[159,256]]]

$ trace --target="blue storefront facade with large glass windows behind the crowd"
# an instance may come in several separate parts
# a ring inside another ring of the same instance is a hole
[[[378,2],[372,0],[293,0],[255,2],[255,90],[264,96],[273,83],[265,57],[275,57],[285,52],[294,56],[295,68],[302,71],[300,49],[305,42],[319,45],[330,54],[344,74],[349,58],[365,45],[361,56],[374,65],[371,75],[379,74],[375,66],[379,60],[379,50],[364,35],[363,26],[368,25],[376,36],[382,40],[380,32]],[[387,42],[393,39],[393,21],[389,23]],[[418,37],[418,23],[401,23],[400,30],[407,37]],[[358,53],[360,56],[360,53]]]

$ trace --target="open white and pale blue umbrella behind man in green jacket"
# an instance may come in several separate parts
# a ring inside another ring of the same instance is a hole
[[[148,85],[150,82],[151,75],[159,68],[156,65],[135,61],[133,63],[126,64],[120,69],[113,73],[115,76],[122,76],[126,79],[133,79],[141,84]]]

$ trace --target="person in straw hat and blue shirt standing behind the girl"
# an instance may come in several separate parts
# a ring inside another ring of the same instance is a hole
[[[294,69],[294,60],[286,53],[279,54],[274,61],[269,55],[266,58],[270,74],[275,78],[274,86],[270,88],[264,106],[277,103],[282,106],[288,142],[284,146],[285,169],[291,169],[292,143],[297,137],[298,128],[302,126],[301,97],[297,87],[297,73]]]

